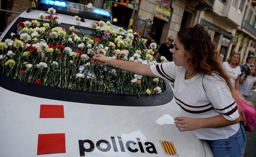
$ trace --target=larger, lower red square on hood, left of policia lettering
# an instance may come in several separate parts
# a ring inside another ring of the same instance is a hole
[[[39,134],[37,155],[66,153],[65,133]]]

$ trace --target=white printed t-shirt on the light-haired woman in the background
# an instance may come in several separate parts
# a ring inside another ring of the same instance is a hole
[[[242,74],[241,72],[241,68],[239,66],[237,66],[236,68],[232,68],[228,62],[223,62],[222,63],[223,68],[226,69],[226,71],[228,72],[228,74],[230,75],[231,78],[231,83],[233,84],[233,86],[235,86],[235,80],[237,79],[237,76]]]

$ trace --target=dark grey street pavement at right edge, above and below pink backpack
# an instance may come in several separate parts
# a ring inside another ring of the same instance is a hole
[[[250,99],[253,103],[254,109],[256,109],[256,92],[253,91],[253,95]],[[255,157],[256,156],[256,126],[252,132],[246,132],[247,144],[244,152],[244,157]]]

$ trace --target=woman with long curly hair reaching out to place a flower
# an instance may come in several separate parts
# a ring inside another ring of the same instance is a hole
[[[97,64],[174,82],[174,97],[183,116],[174,118],[179,131],[192,131],[207,140],[215,156],[243,156],[246,134],[239,124],[244,117],[238,100],[245,100],[222,68],[216,43],[202,25],[196,24],[180,30],[174,46],[174,62],[159,65],[119,61],[100,54],[93,58]]]

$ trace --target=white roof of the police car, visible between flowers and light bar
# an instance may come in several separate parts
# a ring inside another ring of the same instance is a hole
[[[38,17],[39,13],[47,13],[47,12],[45,12],[44,10],[31,10],[29,13],[27,13],[26,10],[25,10],[23,13],[21,13],[19,15],[19,17],[41,20]],[[74,25],[74,26],[77,25],[78,21],[75,20],[73,16],[60,14],[58,12],[56,12],[56,13],[58,14],[57,16],[60,19],[61,23],[71,24],[71,25]],[[85,20],[85,22],[82,22],[82,21],[79,21],[79,22],[80,22],[82,27],[87,27],[87,28],[92,28],[91,24],[93,22],[99,22],[97,20],[91,20],[91,19],[86,19],[86,18],[84,20]],[[49,21],[49,20],[45,20],[45,21]],[[114,31],[116,31],[117,34],[120,34],[120,35],[125,35],[125,33],[127,33],[127,31],[125,29],[123,29],[124,32],[118,33],[119,26],[116,26],[114,24],[111,24],[111,28]],[[102,27],[102,30],[105,30],[105,28]]]

